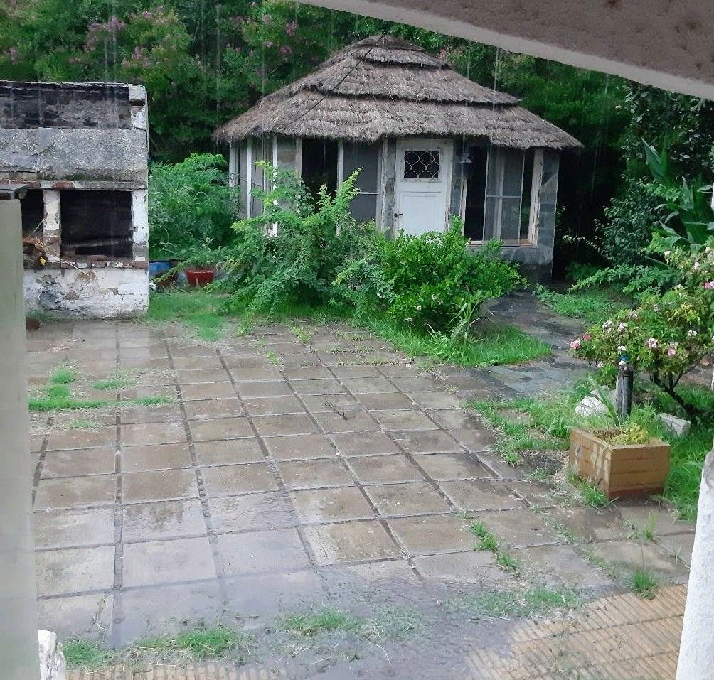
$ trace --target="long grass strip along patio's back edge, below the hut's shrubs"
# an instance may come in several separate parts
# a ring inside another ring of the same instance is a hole
[[[253,325],[268,321],[311,320],[314,323],[342,322],[365,328],[410,357],[428,357],[441,362],[463,366],[487,366],[526,362],[550,354],[550,346],[511,325],[482,322],[468,338],[454,338],[445,333],[433,333],[397,323],[383,313],[356,318],[351,310],[339,305],[308,307],[283,305],[269,318],[250,315],[231,315],[223,307],[225,295],[211,290],[172,290],[151,295],[149,314],[151,323],[180,320],[203,340],[218,340],[230,325],[238,333],[245,333]],[[296,339],[308,342],[309,334],[298,325],[291,330]]]

